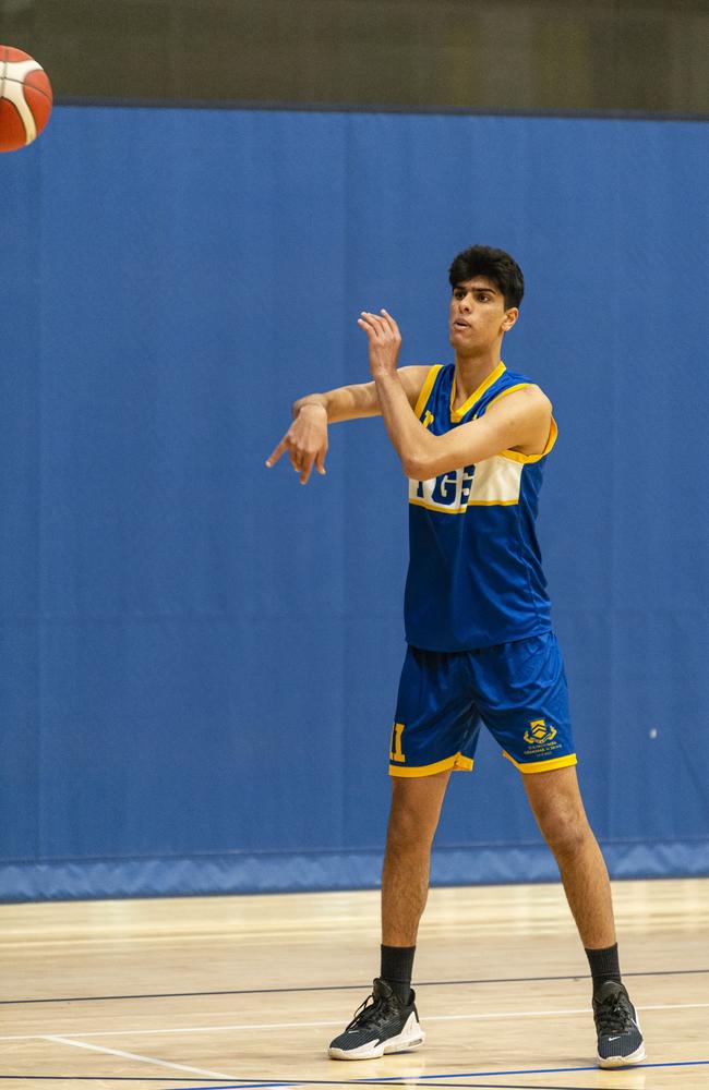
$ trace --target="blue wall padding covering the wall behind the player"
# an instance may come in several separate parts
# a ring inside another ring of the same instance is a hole
[[[508,249],[552,397],[540,532],[617,876],[709,873],[707,126],[58,108],[0,158],[0,895],[371,885],[404,656],[362,308],[447,361],[447,267]],[[550,879],[515,770],[454,777],[434,879]]]

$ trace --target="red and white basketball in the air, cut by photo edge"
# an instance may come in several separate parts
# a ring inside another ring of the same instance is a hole
[[[22,49],[0,46],[0,152],[32,144],[49,121],[51,84]]]

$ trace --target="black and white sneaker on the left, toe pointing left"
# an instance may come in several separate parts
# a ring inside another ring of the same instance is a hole
[[[385,1052],[419,1049],[425,1040],[413,1003],[402,1003],[385,980],[377,977],[372,994],[354,1012],[344,1033],[332,1042],[332,1059],[378,1059]]]

